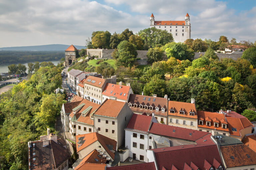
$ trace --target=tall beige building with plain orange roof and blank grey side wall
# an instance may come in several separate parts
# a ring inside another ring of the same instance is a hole
[[[93,114],[94,127],[99,134],[117,141],[117,147],[124,144],[124,128],[132,116],[126,102],[107,99]]]

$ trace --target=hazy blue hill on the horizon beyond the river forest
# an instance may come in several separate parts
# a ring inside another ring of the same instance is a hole
[[[70,44],[71,45],[71,44]],[[3,51],[64,51],[70,45],[64,44],[49,44],[49,45],[35,45],[35,46],[14,46],[2,47]],[[85,46],[74,45],[77,49],[85,48]]]

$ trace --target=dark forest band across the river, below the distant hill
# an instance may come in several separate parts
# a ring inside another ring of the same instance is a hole
[[[59,60],[64,51],[0,51],[0,64]]]

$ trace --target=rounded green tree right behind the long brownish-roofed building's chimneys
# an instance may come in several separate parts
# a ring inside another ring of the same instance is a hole
[[[163,97],[166,93],[165,81],[154,75],[151,81],[144,86],[143,92],[147,96],[156,94],[158,97]]]

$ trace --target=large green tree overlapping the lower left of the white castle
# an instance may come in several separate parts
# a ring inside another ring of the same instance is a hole
[[[144,43],[149,46],[149,48],[155,47],[156,44],[165,45],[168,42],[173,42],[171,33],[159,30],[155,27],[140,30],[138,35],[142,38]]]

